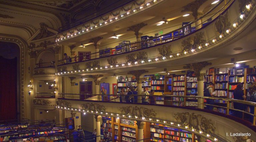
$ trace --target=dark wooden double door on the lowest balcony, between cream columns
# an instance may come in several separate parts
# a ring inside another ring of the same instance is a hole
[[[92,81],[80,81],[80,94],[92,94]],[[80,99],[86,99],[92,95],[80,95]]]

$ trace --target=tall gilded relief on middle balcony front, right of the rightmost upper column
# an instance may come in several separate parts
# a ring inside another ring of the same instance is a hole
[[[230,22],[229,22],[228,13],[226,12],[223,15],[220,14],[219,18],[214,23],[214,26],[216,28],[218,35],[223,34],[227,29],[229,29]]]

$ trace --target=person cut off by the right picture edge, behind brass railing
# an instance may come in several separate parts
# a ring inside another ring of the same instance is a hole
[[[246,96],[246,100],[247,101],[251,101],[251,102],[256,102],[256,85],[250,85],[249,89],[248,89],[248,93]],[[250,113],[253,114],[254,113],[254,106],[249,105],[250,107]],[[253,122],[253,116],[250,115],[250,121]]]

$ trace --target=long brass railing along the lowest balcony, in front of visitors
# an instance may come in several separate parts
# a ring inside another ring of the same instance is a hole
[[[180,95],[102,95],[93,94],[94,97],[80,99],[80,95],[92,94],[72,94],[59,93],[58,99],[80,100],[80,101],[99,101],[110,103],[128,103],[145,104],[160,106],[179,106],[181,108],[199,108],[207,109],[210,112],[219,112],[218,114],[233,115],[235,117],[247,120],[255,125],[256,122],[256,103],[223,97],[205,97],[205,96],[180,96]],[[143,101],[144,100],[144,101]],[[242,107],[241,107],[242,106]]]

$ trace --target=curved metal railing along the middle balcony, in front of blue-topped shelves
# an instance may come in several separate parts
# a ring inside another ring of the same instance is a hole
[[[197,18],[196,20],[188,23],[187,25],[182,26],[181,28],[178,28],[176,30],[173,30],[167,34],[163,34],[154,38],[150,38],[147,40],[142,40],[139,42],[133,42],[130,44],[126,44],[126,45],[122,45],[119,47],[115,47],[115,48],[111,48],[111,49],[105,49],[105,50],[101,50],[99,52],[96,53],[91,53],[91,54],[87,54],[87,55],[82,55],[82,56],[77,56],[77,57],[72,57],[71,58],[71,62],[69,59],[63,59],[63,60],[59,60],[58,62],[58,66],[59,65],[64,65],[64,64],[70,64],[70,63],[76,63],[76,62],[84,62],[84,61],[89,61],[89,60],[94,60],[94,59],[99,59],[99,58],[103,58],[103,57],[108,57],[108,56],[113,56],[113,55],[118,55],[118,54],[122,54],[122,53],[129,53],[138,49],[146,49],[146,48],[151,48],[151,47],[155,47],[161,44],[164,44],[166,42],[171,42],[173,40],[182,38],[186,35],[192,34],[194,32],[196,32],[197,27],[202,26],[203,24],[210,24],[211,22],[213,22],[215,19],[217,19],[220,14],[220,12],[225,13],[227,11],[227,9],[229,9],[229,7],[235,2],[235,0],[231,1],[229,0],[226,4],[224,4],[223,6],[220,7],[220,9],[217,10],[217,12],[215,12],[214,14],[212,14],[211,12],[213,10],[215,10],[220,4],[224,3],[224,0],[221,0],[220,2],[218,2],[217,5],[215,5],[213,8],[211,8],[208,12],[206,12],[204,15],[202,15],[201,17]],[[226,7],[228,6],[228,8],[226,9]],[[209,19],[212,19],[213,17],[216,18],[214,20],[212,20],[211,22],[208,22]],[[206,20],[204,20],[200,25],[196,25],[195,27],[191,27],[192,24],[195,24],[197,21],[201,21],[203,18],[206,18]],[[190,27],[189,29],[185,30],[185,28]],[[200,28],[198,28],[200,29]],[[171,36],[169,36],[171,35]],[[87,59],[86,57],[90,56],[90,59]],[[82,59],[82,60],[77,60],[77,59]]]

